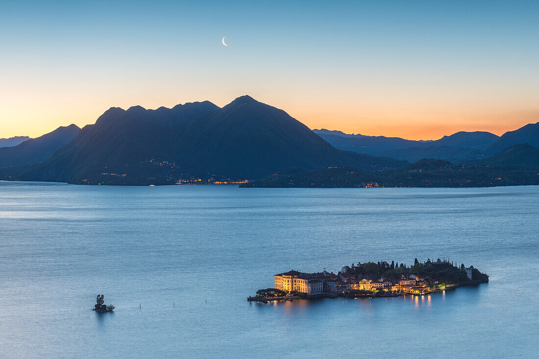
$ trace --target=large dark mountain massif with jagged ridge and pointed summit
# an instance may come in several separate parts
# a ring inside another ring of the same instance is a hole
[[[286,112],[250,96],[223,108],[209,101],[156,110],[113,107],[67,142],[45,159],[34,158],[32,165],[4,171],[4,178],[171,184],[193,178],[253,179],[290,167],[353,165],[376,171],[406,164],[338,150]],[[20,164],[32,162],[29,157],[20,156]],[[13,167],[12,162],[0,162],[0,167]]]

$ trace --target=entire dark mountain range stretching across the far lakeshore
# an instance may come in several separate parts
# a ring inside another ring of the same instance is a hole
[[[312,131],[281,109],[245,95],[223,108],[209,101],[155,110],[112,107],[93,125],[60,127],[0,148],[0,178],[148,185],[257,178],[283,184],[302,176],[302,183],[310,185],[320,181],[309,176],[319,176],[323,185],[333,186],[328,178],[335,176],[349,177],[343,181],[351,187],[360,179],[396,186],[430,186],[429,178],[438,185],[529,184],[529,174],[538,173],[538,133],[539,122],[500,137],[458,132],[435,141]],[[440,163],[443,178],[437,175]],[[413,166],[422,174],[410,176]],[[423,176],[431,172],[432,177]]]

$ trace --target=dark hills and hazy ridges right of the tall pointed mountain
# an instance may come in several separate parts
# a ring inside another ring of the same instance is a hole
[[[428,143],[397,148],[409,140],[383,136],[319,135],[340,148],[409,160],[412,164],[365,173],[355,167],[296,169],[241,184],[241,187],[491,187],[539,185],[539,123],[496,136],[488,132],[458,132]],[[335,137],[340,137],[335,139]],[[535,146],[531,146],[531,142]],[[412,141],[413,142],[413,141]],[[348,145],[351,147],[346,147]],[[503,147],[509,145],[508,147]],[[457,147],[462,146],[462,147]],[[383,147],[392,147],[376,152]],[[494,153],[497,149],[502,150]],[[472,159],[473,158],[473,159]],[[462,163],[465,162],[465,163]],[[460,163],[460,164],[454,164]]]

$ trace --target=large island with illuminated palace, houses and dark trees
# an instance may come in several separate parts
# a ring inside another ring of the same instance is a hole
[[[248,301],[336,298],[376,298],[399,295],[428,295],[463,285],[488,282],[488,275],[473,266],[457,265],[449,259],[414,264],[378,261],[352,263],[336,274],[288,271],[274,275],[274,288],[260,289]]]

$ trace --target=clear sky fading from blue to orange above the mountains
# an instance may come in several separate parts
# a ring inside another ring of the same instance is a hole
[[[82,127],[113,106],[244,94],[309,128],[413,140],[539,121],[537,1],[0,8],[0,137]]]

